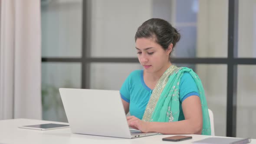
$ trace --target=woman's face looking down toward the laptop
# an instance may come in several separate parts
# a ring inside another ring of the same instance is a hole
[[[145,72],[158,72],[169,63],[171,49],[164,50],[153,38],[138,38],[136,49]]]

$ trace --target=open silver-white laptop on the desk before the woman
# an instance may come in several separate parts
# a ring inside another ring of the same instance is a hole
[[[72,133],[123,138],[159,134],[130,131],[119,91],[59,88],[59,93]]]

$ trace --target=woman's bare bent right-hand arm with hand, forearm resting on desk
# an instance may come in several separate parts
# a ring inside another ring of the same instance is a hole
[[[145,122],[130,116],[128,124],[142,132],[159,132],[161,134],[201,134],[203,116],[200,98],[192,95],[182,102],[185,120],[175,122]]]

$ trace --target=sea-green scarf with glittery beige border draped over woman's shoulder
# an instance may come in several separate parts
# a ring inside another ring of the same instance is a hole
[[[210,118],[203,85],[198,75],[187,67],[171,65],[161,76],[148,101],[142,120],[171,122],[178,121],[180,114],[179,85],[184,72],[189,72],[197,84],[203,112],[203,135],[210,135]]]

